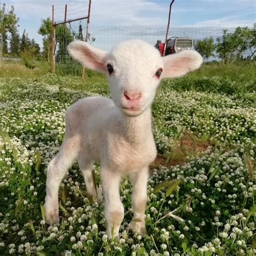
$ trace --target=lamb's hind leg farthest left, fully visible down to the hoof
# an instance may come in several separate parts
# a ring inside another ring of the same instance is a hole
[[[59,185],[76,157],[76,142],[75,140],[68,138],[64,140],[58,154],[48,165],[44,211],[45,221],[50,225],[59,223]]]

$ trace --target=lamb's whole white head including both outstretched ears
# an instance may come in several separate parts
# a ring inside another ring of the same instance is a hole
[[[139,116],[151,106],[161,78],[183,76],[203,62],[191,50],[161,57],[156,48],[140,40],[119,43],[109,53],[75,41],[68,51],[86,68],[106,73],[112,99],[127,116]]]

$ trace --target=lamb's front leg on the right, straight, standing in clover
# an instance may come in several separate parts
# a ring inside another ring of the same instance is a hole
[[[147,179],[149,178],[149,168],[132,173],[130,176],[132,183],[132,210],[133,220],[132,231],[138,234],[145,234],[145,208],[147,203]]]

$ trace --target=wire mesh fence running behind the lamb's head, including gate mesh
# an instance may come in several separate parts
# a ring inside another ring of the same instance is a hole
[[[85,41],[86,25],[87,20],[83,19],[56,27],[57,49],[55,61],[57,73],[76,76],[82,74],[82,66],[70,58],[66,46],[74,40]],[[217,37],[222,35],[224,29],[227,29],[228,32],[234,32],[235,30],[235,28],[220,27],[172,27],[169,30],[169,38],[192,38],[193,42],[196,42],[198,39],[212,37],[216,41]],[[115,44],[128,39],[142,39],[155,45],[159,40],[164,42],[165,33],[166,26],[164,25],[90,26],[88,43],[109,51]],[[247,54],[249,53],[245,53],[245,55]]]

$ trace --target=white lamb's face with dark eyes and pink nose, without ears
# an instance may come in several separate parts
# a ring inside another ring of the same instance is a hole
[[[151,106],[164,68],[157,49],[126,41],[106,56],[105,65],[112,99],[124,114],[138,116]]]

